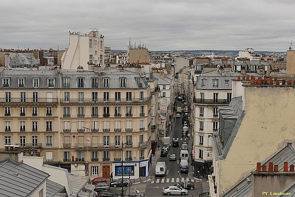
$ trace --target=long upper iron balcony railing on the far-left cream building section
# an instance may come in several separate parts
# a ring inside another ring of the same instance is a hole
[[[37,102],[35,98],[0,98],[0,102],[2,103],[43,103],[43,104],[47,104],[47,103],[58,103],[58,99],[57,98],[38,98]]]

